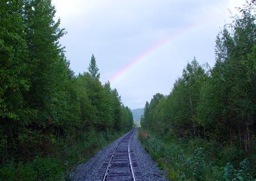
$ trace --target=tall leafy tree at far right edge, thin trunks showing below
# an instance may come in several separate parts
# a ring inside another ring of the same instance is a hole
[[[248,132],[254,130],[255,122],[255,59],[250,57],[255,54],[256,45],[255,5],[252,1],[239,8],[242,14],[233,17],[231,30],[226,25],[217,36],[216,65],[212,70],[212,79],[221,92],[216,97],[223,97],[221,118],[229,127],[230,142],[236,141],[233,134],[238,133],[245,151]]]

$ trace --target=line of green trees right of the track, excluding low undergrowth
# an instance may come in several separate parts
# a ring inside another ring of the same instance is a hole
[[[169,95],[157,93],[146,102],[143,129],[162,138],[203,138],[217,141],[222,148],[237,147],[239,158],[234,160],[249,155],[255,168],[255,5],[252,1],[239,8],[241,15],[219,32],[212,68],[194,58]]]

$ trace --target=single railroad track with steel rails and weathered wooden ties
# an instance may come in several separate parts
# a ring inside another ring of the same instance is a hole
[[[99,181],[143,181],[130,145],[135,131],[127,133],[108,154],[99,171]]]

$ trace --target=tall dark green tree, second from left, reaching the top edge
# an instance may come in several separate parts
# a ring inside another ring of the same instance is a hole
[[[29,58],[27,78],[31,82],[24,97],[27,107],[31,109],[31,124],[21,136],[25,139],[21,145],[31,147],[31,151],[26,153],[33,156],[35,147],[48,152],[48,147],[42,143],[50,145],[58,133],[63,133],[60,130],[68,117],[65,85],[69,74],[59,43],[65,31],[59,27],[60,20],[54,21],[56,10],[51,1],[23,2],[23,23]],[[35,139],[27,139],[28,135]]]

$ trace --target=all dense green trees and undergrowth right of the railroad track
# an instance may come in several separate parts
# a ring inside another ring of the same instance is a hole
[[[194,58],[169,95],[146,102],[145,149],[172,180],[256,179],[256,2],[216,38],[216,63]]]

